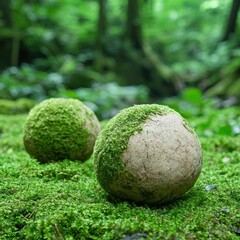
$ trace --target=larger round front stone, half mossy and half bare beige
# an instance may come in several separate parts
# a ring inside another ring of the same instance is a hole
[[[97,179],[110,194],[162,204],[195,184],[202,151],[194,130],[179,113],[157,104],[136,105],[111,119],[96,141]]]

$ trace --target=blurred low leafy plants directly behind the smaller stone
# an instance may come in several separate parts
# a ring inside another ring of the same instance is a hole
[[[120,109],[133,104],[149,101],[146,86],[120,86],[115,82],[117,77],[114,73],[101,75],[91,69],[75,72],[75,64],[71,57],[65,59],[59,73],[46,73],[30,65],[6,69],[1,75],[0,99],[30,98],[42,101],[50,97],[76,98],[90,107],[100,119],[110,118]]]

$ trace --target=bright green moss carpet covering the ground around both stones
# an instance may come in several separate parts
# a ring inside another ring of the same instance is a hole
[[[181,199],[151,207],[108,196],[92,158],[31,159],[22,143],[25,118],[0,116],[0,239],[239,239],[240,136],[219,132],[222,122],[190,120],[203,145],[202,173]]]

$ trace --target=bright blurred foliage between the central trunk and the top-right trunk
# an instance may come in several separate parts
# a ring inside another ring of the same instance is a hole
[[[218,47],[218,42],[230,0],[148,1],[148,4],[152,6],[143,9],[144,34],[161,59],[171,65],[176,79],[192,82],[226,63],[228,44]]]

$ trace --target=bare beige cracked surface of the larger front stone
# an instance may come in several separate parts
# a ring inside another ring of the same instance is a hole
[[[185,120],[168,113],[150,116],[142,131],[129,138],[121,160],[124,171],[107,190],[123,199],[160,204],[179,198],[195,184],[202,152]]]

